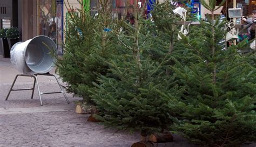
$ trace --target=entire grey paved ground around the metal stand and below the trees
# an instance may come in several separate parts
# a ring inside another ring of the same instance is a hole
[[[53,72],[51,72],[53,73]],[[70,104],[63,94],[42,95],[40,106],[35,89],[11,92],[5,97],[18,71],[9,58],[0,56],[0,146],[131,146],[138,142],[139,134],[129,134],[115,129],[104,129],[96,122],[87,122],[89,115],[75,113],[75,101],[79,97],[67,94]],[[31,88],[33,79],[19,77],[14,88]],[[53,77],[39,77],[42,92],[55,92],[59,87]],[[174,135],[174,142],[159,143],[155,146],[196,146],[184,138]],[[256,146],[256,144],[244,145]]]

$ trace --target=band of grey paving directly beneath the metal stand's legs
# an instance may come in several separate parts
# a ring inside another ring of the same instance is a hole
[[[59,91],[60,88],[57,83],[39,83],[41,92],[56,92]],[[32,90],[22,90],[22,91],[12,91],[9,95],[7,101],[5,98],[9,92],[11,85],[0,85],[0,108],[31,108],[31,107],[39,107],[41,106],[39,100],[39,94],[37,88],[35,88],[35,92],[33,94],[33,99],[31,99]],[[31,88],[31,84],[19,84],[15,85],[15,89],[22,88]],[[82,100],[79,97],[72,97],[71,94],[67,94],[69,100],[78,101]],[[63,104],[67,104],[65,97],[62,93],[59,94],[45,94],[41,95],[43,107],[44,106],[60,106]],[[75,104],[70,104],[75,105]]]

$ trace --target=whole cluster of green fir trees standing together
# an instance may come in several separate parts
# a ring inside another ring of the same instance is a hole
[[[244,41],[224,50],[225,21],[209,18],[178,40],[169,2],[155,6],[153,22],[135,8],[134,25],[113,21],[108,2],[98,16],[70,13],[57,61],[67,90],[95,104],[98,120],[143,136],[169,128],[204,146],[256,140],[255,54],[238,53]],[[215,10],[215,0],[202,4]]]

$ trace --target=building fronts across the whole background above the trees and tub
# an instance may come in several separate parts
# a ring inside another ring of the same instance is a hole
[[[135,0],[112,0],[111,6],[113,18],[122,18],[127,13],[132,13],[132,5]],[[154,0],[139,0],[145,1]],[[159,0],[165,2],[167,0]],[[178,0],[183,1],[183,0]],[[221,2],[221,0],[217,0]],[[91,9],[91,14],[97,13],[99,0],[0,0],[0,28],[2,27],[18,27],[21,32],[22,41],[28,40],[38,35],[44,35],[52,38],[57,46],[58,52],[62,53],[62,45],[64,40],[65,22],[70,16],[69,11],[78,12],[81,8],[80,3],[85,3],[84,9]],[[125,3],[126,2],[126,3]],[[194,0],[194,9],[196,12],[204,13],[200,2]],[[71,6],[69,7],[68,4]],[[227,7],[233,8],[234,4],[242,7],[244,15],[250,15],[252,10],[256,10],[256,0],[227,0]],[[129,4],[131,9],[125,12],[125,4]],[[196,10],[197,9],[197,10]]]

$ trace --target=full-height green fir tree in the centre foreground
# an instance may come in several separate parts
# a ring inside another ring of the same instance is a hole
[[[112,76],[100,76],[91,97],[99,110],[96,118],[107,127],[139,130],[146,137],[167,129],[172,123],[170,97],[160,96],[160,93],[175,82],[166,76],[163,67],[169,60],[166,58],[169,47],[162,52],[161,60],[149,53],[162,40],[153,33],[154,24],[145,19],[137,5],[138,1],[134,1],[134,26],[123,22],[125,31],[113,32],[118,41],[113,48],[116,54],[108,62]]]

